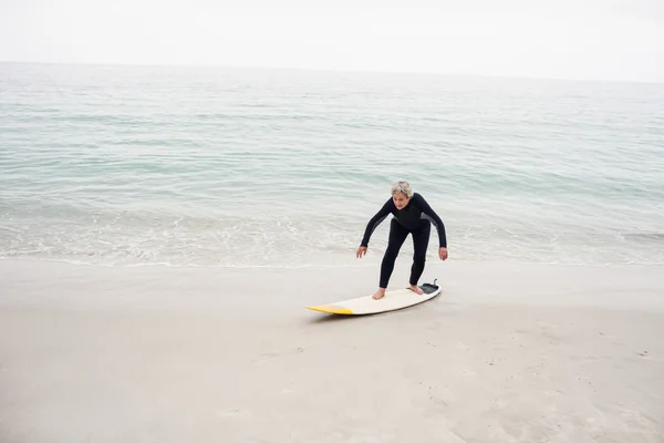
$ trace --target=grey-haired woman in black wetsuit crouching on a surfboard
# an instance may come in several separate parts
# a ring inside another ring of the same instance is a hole
[[[366,254],[371,235],[390,214],[394,217],[390,224],[390,239],[381,264],[378,290],[373,295],[375,300],[385,296],[387,282],[394,270],[394,261],[408,234],[413,235],[414,247],[409,282],[411,289],[416,293],[423,293],[422,289],[417,287],[417,281],[424,271],[432,223],[438,231],[438,257],[440,257],[440,260],[447,259],[447,238],[445,237],[443,220],[440,220],[440,217],[432,209],[422,195],[413,193],[411,184],[406,181],[396,182],[392,186],[392,198],[385,202],[381,210],[369,220],[364,230],[364,237],[356,251],[357,258],[362,258]]]

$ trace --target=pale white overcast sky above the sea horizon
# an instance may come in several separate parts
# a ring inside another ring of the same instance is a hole
[[[664,82],[664,0],[0,0],[0,60]]]

